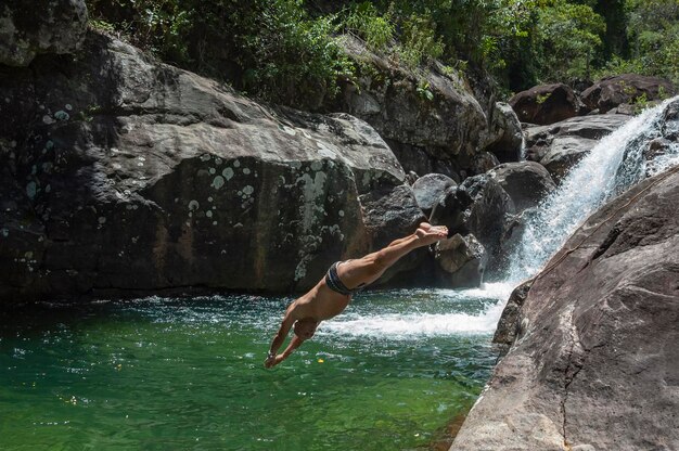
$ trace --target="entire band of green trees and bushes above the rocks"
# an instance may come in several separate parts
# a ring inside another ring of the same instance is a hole
[[[415,74],[439,60],[500,92],[622,73],[679,83],[679,0],[87,0],[93,28],[271,102],[351,81],[350,33]],[[312,11],[312,12],[311,12]],[[330,12],[329,12],[330,11]],[[366,72],[361,67],[361,72]],[[419,77],[421,78],[421,77]],[[427,99],[428,88],[418,93]]]

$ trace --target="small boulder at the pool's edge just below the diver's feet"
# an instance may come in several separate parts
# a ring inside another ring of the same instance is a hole
[[[462,288],[481,285],[486,266],[486,252],[474,235],[456,234],[438,242],[435,249],[436,261],[448,274],[446,278],[448,286]]]

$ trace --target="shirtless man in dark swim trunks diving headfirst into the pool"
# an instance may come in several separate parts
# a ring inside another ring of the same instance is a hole
[[[412,235],[396,240],[376,253],[357,260],[337,261],[331,266],[325,278],[287,307],[264,365],[272,368],[287,359],[299,345],[313,336],[321,321],[342,313],[349,305],[354,293],[380,279],[399,258],[418,247],[436,243],[447,235],[448,229],[445,227],[433,227],[423,222]],[[277,355],[293,327],[294,335],[287,348],[283,353]]]

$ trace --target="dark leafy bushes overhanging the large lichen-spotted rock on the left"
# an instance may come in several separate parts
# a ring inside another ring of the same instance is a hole
[[[335,17],[310,17],[300,0],[88,0],[88,8],[161,59],[277,103],[312,108],[353,70]]]

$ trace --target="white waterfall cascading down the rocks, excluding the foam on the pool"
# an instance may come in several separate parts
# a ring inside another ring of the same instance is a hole
[[[523,236],[511,255],[505,283],[516,285],[537,274],[568,236],[599,207],[643,180],[679,163],[679,145],[645,160],[650,140],[662,136],[659,119],[668,103],[649,108],[603,138],[564,178],[528,218]]]

